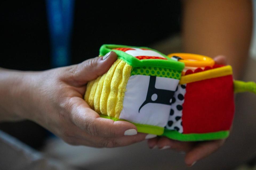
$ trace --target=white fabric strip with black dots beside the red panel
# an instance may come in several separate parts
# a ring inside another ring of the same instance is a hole
[[[174,93],[171,101],[171,110],[168,124],[166,129],[176,130],[179,133],[183,133],[182,127],[182,104],[184,103],[184,97],[186,94],[186,84],[179,84]]]

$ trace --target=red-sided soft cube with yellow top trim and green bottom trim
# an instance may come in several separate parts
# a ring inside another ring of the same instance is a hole
[[[165,136],[180,141],[226,138],[234,116],[231,67],[182,76],[173,100]]]

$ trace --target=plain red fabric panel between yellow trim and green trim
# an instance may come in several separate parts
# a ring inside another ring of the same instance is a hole
[[[232,75],[188,83],[182,106],[184,134],[229,130],[234,116]]]

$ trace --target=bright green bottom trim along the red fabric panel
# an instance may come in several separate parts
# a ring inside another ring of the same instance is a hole
[[[162,136],[178,141],[209,141],[227,138],[229,136],[229,131],[181,134],[176,130],[165,129]]]

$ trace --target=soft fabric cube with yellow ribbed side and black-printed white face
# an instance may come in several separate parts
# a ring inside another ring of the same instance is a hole
[[[162,135],[184,64],[146,47],[103,45],[118,60],[87,84],[85,100],[101,117],[126,120],[138,132]]]

